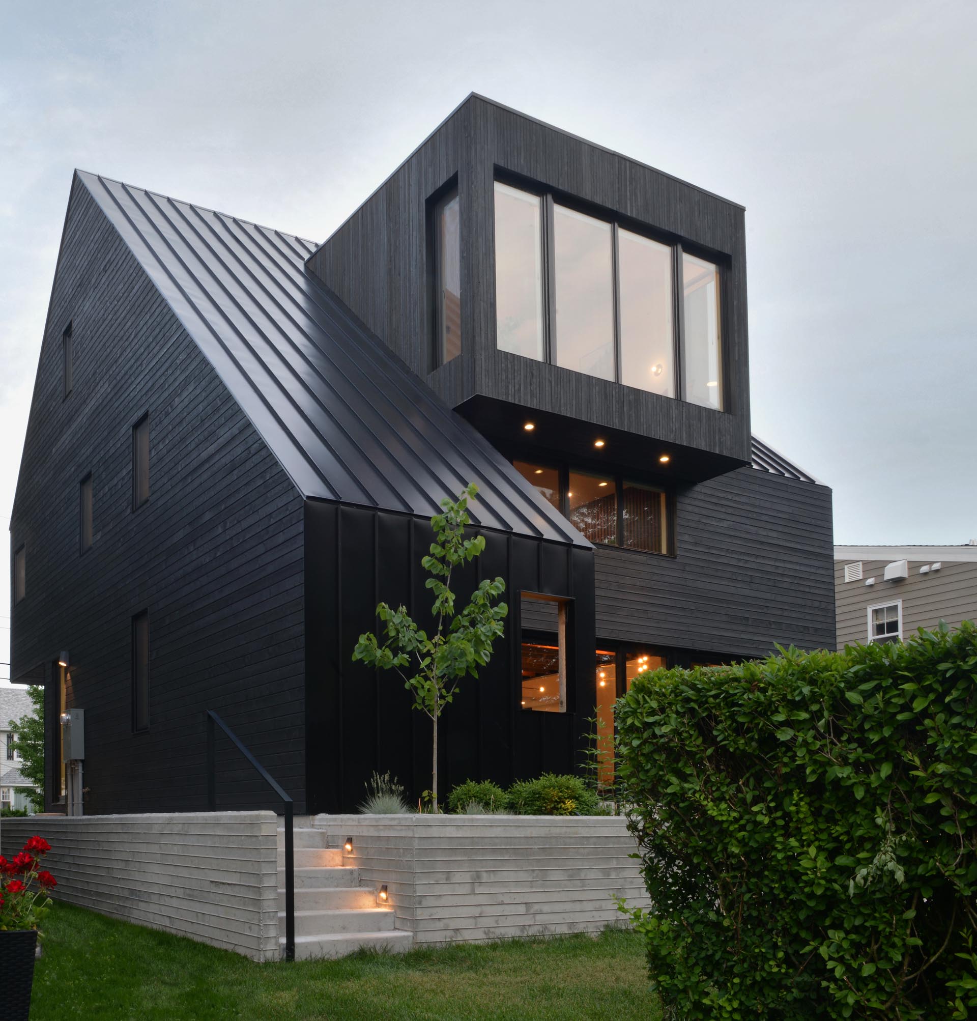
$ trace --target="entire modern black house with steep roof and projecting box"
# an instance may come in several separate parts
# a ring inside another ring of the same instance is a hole
[[[573,769],[642,669],[834,644],[830,490],[750,435],[742,207],[474,95],[320,246],[76,173],[11,521],[50,808],[72,707],[89,814],[204,808],[208,709],[299,812],[418,796],[428,721],[350,657],[470,481],[461,588],[510,613],[442,789]]]

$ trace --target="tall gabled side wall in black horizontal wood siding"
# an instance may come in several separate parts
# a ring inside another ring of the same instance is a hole
[[[75,387],[62,400],[61,332]],[[150,416],[150,498],[132,510],[132,427]],[[79,483],[94,543],[80,555]],[[302,500],[224,384],[76,182],[11,522],[28,595],[12,676],[70,652],[86,710],[86,812],[205,807],[205,709],[304,804]],[[132,733],[131,619],[149,612],[146,733]],[[48,719],[55,686],[49,685]],[[55,743],[49,724],[49,793]],[[273,807],[219,745],[218,804]]]

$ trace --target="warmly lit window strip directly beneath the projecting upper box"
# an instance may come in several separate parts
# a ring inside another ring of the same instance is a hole
[[[512,467],[591,542],[647,553],[672,552],[671,501],[664,489],[527,460]]]

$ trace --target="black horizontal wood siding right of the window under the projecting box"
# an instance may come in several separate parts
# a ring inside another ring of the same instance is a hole
[[[681,490],[677,555],[600,546],[597,637],[724,655],[834,648],[831,490],[751,468]]]

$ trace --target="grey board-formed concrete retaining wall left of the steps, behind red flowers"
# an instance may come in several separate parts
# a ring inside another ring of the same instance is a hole
[[[0,852],[38,833],[58,901],[273,961],[277,827],[272,812],[33,816],[3,820]]]

